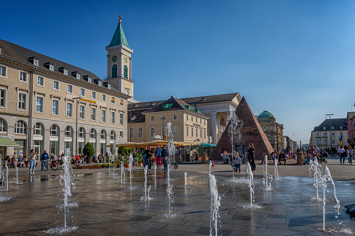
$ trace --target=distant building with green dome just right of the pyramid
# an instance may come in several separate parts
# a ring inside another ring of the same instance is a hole
[[[276,122],[275,117],[269,111],[263,111],[257,117],[262,130],[269,139],[273,149],[280,151],[283,147],[283,125]]]

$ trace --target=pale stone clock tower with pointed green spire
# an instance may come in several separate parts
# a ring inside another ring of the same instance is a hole
[[[106,80],[120,92],[133,97],[132,79],[132,54],[121,25],[121,15],[119,24],[114,31],[114,36],[107,47],[107,77]],[[129,100],[128,100],[129,102]]]

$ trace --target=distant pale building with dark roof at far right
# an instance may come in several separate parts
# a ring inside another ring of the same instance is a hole
[[[340,147],[339,137],[342,135],[342,144],[349,145],[347,118],[326,119],[316,126],[310,134],[310,145],[317,145],[320,149]]]

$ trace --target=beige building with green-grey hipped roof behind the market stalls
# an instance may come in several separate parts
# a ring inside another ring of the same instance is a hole
[[[174,141],[204,143],[208,139],[208,119],[198,109],[175,97],[157,104],[151,102],[147,107],[133,105],[128,111],[128,141],[166,140],[167,123],[171,123]]]

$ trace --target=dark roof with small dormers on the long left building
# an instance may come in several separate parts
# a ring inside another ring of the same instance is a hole
[[[73,75],[71,75],[71,73],[78,72],[82,76],[89,75],[89,77],[91,77],[93,79],[98,79],[99,81],[104,82],[103,79],[100,79],[96,74],[93,74],[89,70],[84,70],[82,68],[78,68],[77,66],[70,65],[69,63],[65,63],[63,61],[56,60],[55,58],[52,58],[50,56],[45,56],[43,54],[40,54],[38,52],[34,52],[34,51],[27,49],[25,47],[15,45],[12,42],[8,42],[6,40],[0,39],[0,47],[2,48],[0,55],[7,56],[9,58],[13,58],[17,61],[21,61],[22,63],[27,63],[30,65],[33,65],[32,63],[29,62],[29,58],[35,57],[40,62],[39,65],[36,65],[36,66],[38,66],[38,68],[47,69],[47,67],[45,67],[45,63],[50,62],[54,65],[54,71],[56,71],[56,72],[59,72],[59,68],[66,68],[68,70],[68,75],[66,75],[66,76],[73,77]],[[82,77],[79,80],[85,81]],[[86,81],[86,83],[89,83],[89,82]],[[98,86],[97,84],[93,84],[93,85]],[[121,93],[116,88],[114,88],[114,86],[111,86],[110,89],[112,91]],[[122,95],[124,95],[124,93],[122,93]]]

